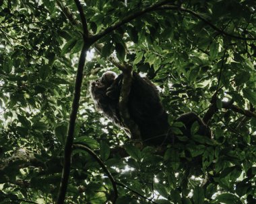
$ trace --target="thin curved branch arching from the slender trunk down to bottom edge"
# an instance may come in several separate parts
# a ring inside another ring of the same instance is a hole
[[[114,177],[108,171],[108,168],[106,168],[106,166],[104,165],[102,160],[100,160],[100,158],[94,153],[94,151],[92,151],[92,149],[90,149],[89,147],[86,147],[86,145],[74,144],[73,147],[87,151],[90,154],[90,156],[92,156],[98,162],[98,164],[100,164],[101,168],[104,170],[104,172],[110,179],[110,182],[112,183],[113,190],[114,190],[113,203],[115,203],[117,201],[117,197],[118,197],[117,185],[116,185]]]

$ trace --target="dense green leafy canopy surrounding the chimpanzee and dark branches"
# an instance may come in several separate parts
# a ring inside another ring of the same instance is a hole
[[[100,54],[91,47],[75,142],[100,156],[117,182],[117,203],[254,204],[256,2],[188,0],[177,7],[181,2],[102,36],[96,42],[103,45]],[[156,1],[83,3],[88,30],[98,34]],[[55,203],[83,44],[79,13],[70,0],[2,0],[0,14],[0,203]],[[184,112],[203,118],[216,94],[218,110],[209,123],[213,140],[177,137],[162,155],[154,154],[156,147],[133,147],[94,109],[88,92],[90,80],[118,71],[107,60],[113,53],[159,86],[170,125]],[[236,109],[222,107],[230,101]],[[124,144],[130,157],[115,151]],[[65,201],[100,204],[112,197],[97,160],[75,149]]]

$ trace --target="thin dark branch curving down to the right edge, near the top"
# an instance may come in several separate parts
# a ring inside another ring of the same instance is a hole
[[[194,15],[199,20],[202,20],[203,22],[208,24],[211,28],[213,28],[214,30],[216,30],[220,34],[225,35],[225,36],[229,36],[230,38],[235,38],[235,39],[238,39],[238,40],[256,40],[256,38],[244,38],[244,37],[241,37],[241,36],[234,36],[232,34],[224,32],[224,30],[221,30],[220,28],[214,26],[214,24],[212,24],[210,21],[206,20],[205,18],[202,18],[201,15],[199,15],[198,13],[195,13],[195,11],[192,11],[190,9],[185,9],[185,7],[179,7],[177,5],[162,5],[158,9],[171,9],[171,10],[183,11],[185,13],[190,13],[191,15]]]

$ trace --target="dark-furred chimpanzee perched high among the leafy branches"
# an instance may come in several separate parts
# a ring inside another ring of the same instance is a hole
[[[138,125],[144,144],[161,145],[170,143],[168,114],[164,110],[156,86],[146,77],[140,77],[133,71],[131,91],[129,93],[128,110],[131,119]],[[125,127],[119,114],[119,96],[123,73],[117,76],[113,71],[106,71],[102,77],[92,81],[90,92],[96,108],[102,110],[111,121]],[[184,123],[181,129],[187,136],[193,122],[199,123],[199,135],[206,133],[207,126],[193,112],[181,115],[177,121]],[[206,133],[207,135],[207,133]]]

